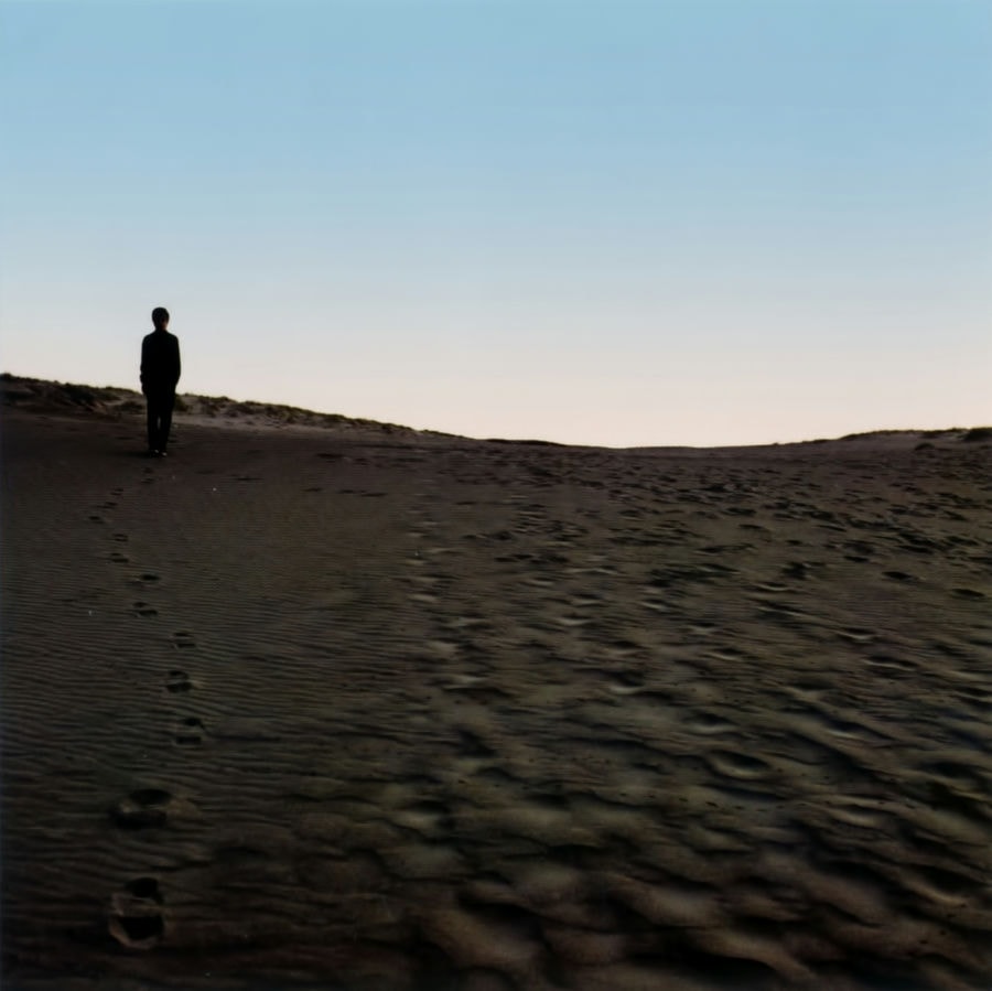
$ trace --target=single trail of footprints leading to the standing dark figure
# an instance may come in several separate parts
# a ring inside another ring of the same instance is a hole
[[[151,473],[151,468],[145,468],[145,475]],[[151,484],[154,478],[145,477],[143,481]],[[115,498],[99,506],[104,513],[110,513],[118,506],[125,489],[115,488],[112,495]],[[89,519],[100,525],[109,521],[100,513],[90,515]],[[115,564],[132,563],[131,558],[120,549],[129,543],[128,535],[117,531],[111,534],[110,539],[116,547],[107,559]],[[161,575],[153,571],[142,571],[132,578],[132,584],[144,590],[153,590],[160,581]],[[131,612],[140,621],[155,620],[159,616],[159,610],[144,599],[136,600],[131,605]],[[193,634],[188,631],[173,634],[171,645],[180,653],[196,648]],[[194,680],[184,669],[180,667],[169,669],[163,681],[163,690],[169,696],[176,697],[179,701],[188,696],[193,688]],[[197,747],[205,739],[206,728],[197,715],[176,711],[173,736],[176,746]],[[176,797],[165,788],[137,788],[114,805],[110,809],[110,820],[123,832],[154,831],[162,829],[180,806],[181,803]],[[114,939],[130,949],[147,950],[161,942],[166,934],[166,918],[165,897],[158,877],[133,877],[125,882],[109,898],[108,931]]]

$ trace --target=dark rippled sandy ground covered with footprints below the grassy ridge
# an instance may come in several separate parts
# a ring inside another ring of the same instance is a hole
[[[11,401],[4,989],[992,987],[974,432]]]

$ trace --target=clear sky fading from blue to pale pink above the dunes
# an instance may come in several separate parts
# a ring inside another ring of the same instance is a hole
[[[992,423],[988,0],[0,0],[0,368],[471,437]]]

